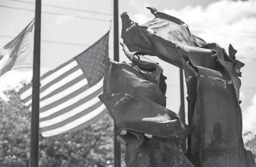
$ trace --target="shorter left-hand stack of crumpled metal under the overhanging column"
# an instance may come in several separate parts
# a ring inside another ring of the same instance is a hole
[[[104,60],[107,63],[104,93],[99,96],[119,132],[127,131],[117,137],[127,145],[126,165],[192,167],[178,148],[188,136],[188,126],[165,108],[166,77],[162,68],[139,53],[130,58],[131,64]],[[147,134],[153,137],[145,137]]]

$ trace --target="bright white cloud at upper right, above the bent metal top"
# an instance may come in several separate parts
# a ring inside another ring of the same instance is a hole
[[[231,43],[238,50],[238,56],[256,57],[255,8],[256,1],[218,1],[206,8],[187,6],[182,10],[165,9],[162,12],[182,19],[193,34],[206,42],[216,42],[225,49]],[[135,14],[131,18],[144,23],[152,17]]]

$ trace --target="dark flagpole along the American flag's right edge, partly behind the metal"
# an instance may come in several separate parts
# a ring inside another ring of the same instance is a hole
[[[114,61],[119,61],[119,12],[118,12],[118,0],[113,0],[114,8]],[[117,142],[118,129],[115,125],[114,128],[114,158],[115,167],[121,166],[121,145]]]

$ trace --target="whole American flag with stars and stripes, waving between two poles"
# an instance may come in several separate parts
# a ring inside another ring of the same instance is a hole
[[[103,93],[109,31],[81,54],[41,76],[40,128],[42,136],[73,132],[99,120],[106,113],[98,96]],[[32,85],[19,90],[31,110]]]

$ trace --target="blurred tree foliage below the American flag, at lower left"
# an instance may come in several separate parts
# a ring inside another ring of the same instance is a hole
[[[10,101],[0,99],[0,166],[29,166],[31,115],[14,90],[6,94]],[[112,118],[106,114],[76,132],[40,136],[39,156],[41,167],[113,166]]]

